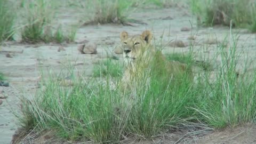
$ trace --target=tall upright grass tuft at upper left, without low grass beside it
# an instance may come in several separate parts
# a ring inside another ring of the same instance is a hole
[[[27,1],[25,9],[25,27],[22,29],[23,42],[38,43],[51,40],[50,24],[53,19],[53,8],[50,1]]]

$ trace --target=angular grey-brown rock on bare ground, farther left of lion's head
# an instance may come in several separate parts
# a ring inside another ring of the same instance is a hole
[[[97,54],[97,44],[86,43],[83,45],[79,45],[77,50],[82,54]]]

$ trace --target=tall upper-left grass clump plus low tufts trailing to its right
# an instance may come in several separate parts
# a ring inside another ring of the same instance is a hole
[[[63,33],[61,26],[52,27],[55,7],[53,1],[25,1],[22,3],[25,26],[21,31],[21,38],[26,43],[72,42],[76,29],[70,30],[70,34]],[[67,30],[68,31],[68,30]]]

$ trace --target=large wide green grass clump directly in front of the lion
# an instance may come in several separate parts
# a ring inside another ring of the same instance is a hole
[[[119,89],[121,77],[113,89],[109,75],[86,82],[74,78],[70,87],[61,86],[52,76],[37,97],[22,98],[19,120],[27,130],[54,130],[64,140],[118,143],[124,137],[153,137],[190,118],[195,110],[186,107],[194,105],[196,96],[191,83],[184,80],[175,85],[158,69],[145,73],[150,82],[145,77],[127,93]]]

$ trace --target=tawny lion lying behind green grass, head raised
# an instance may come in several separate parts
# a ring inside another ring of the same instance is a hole
[[[120,34],[120,39],[126,65],[121,80],[125,89],[136,87],[141,84],[142,79],[148,79],[152,76],[162,77],[162,79],[167,78],[168,81],[171,79],[182,81],[187,74],[190,80],[193,79],[191,69],[185,63],[168,61],[162,52],[151,44],[153,39],[151,31],[145,30],[141,35],[131,36],[123,31]],[[154,73],[150,73],[153,71]],[[163,78],[163,76],[167,77]]]

